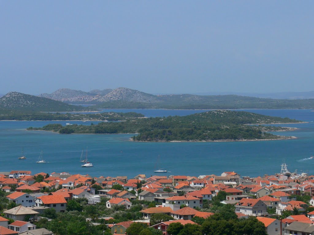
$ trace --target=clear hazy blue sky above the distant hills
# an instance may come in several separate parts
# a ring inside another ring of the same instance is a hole
[[[313,1],[0,1],[0,93],[314,90]]]

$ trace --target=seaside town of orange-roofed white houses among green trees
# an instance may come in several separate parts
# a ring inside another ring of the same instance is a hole
[[[0,235],[224,234],[215,231],[219,221],[250,221],[252,231],[241,234],[314,232],[314,175],[290,173],[285,164],[279,174],[255,178],[15,170],[0,173],[0,187]]]

